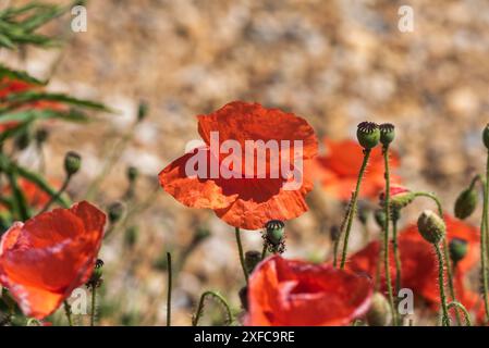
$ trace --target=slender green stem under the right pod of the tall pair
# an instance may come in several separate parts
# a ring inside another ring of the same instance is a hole
[[[383,153],[383,165],[384,165],[384,178],[386,178],[386,197],[384,197],[384,211],[386,211],[386,222],[383,224],[383,269],[386,272],[386,286],[388,289],[389,304],[392,312],[392,323],[398,326],[398,311],[394,306],[394,294],[392,291],[391,282],[391,266],[389,260],[389,221],[391,220],[391,204],[390,204],[390,173],[389,173],[389,147],[384,146],[382,148]]]

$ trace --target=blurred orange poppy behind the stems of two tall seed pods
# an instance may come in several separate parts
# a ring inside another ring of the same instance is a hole
[[[327,192],[338,199],[349,200],[364,159],[363,148],[354,140],[334,141],[325,138],[323,142],[327,153],[316,158],[315,176]],[[400,160],[395,152],[390,151],[390,169],[393,171],[399,166]],[[391,181],[399,183],[400,178],[391,175]],[[383,187],[383,156],[381,147],[376,147],[370,153],[359,197],[377,199]]]

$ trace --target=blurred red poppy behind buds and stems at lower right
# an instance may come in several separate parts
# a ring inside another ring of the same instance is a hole
[[[444,216],[447,224],[447,236],[449,241],[460,238],[467,241],[468,251],[461,260],[455,270],[454,285],[457,299],[467,307],[474,309],[476,301],[474,294],[465,288],[464,278],[467,272],[473,269],[479,259],[479,232],[478,228],[465,224],[450,215]],[[380,241],[372,241],[363,250],[350,258],[347,269],[355,272],[366,272],[372,278],[377,275],[377,260],[381,251]],[[438,308],[440,294],[438,289],[438,261],[432,251],[432,246],[427,243],[417,231],[416,224],[409,225],[399,235],[399,252],[402,262],[402,287],[411,288],[415,295],[423,297],[433,309]],[[392,246],[391,257],[391,278],[394,286],[395,268]],[[386,279],[382,272],[381,283],[384,287]]]

